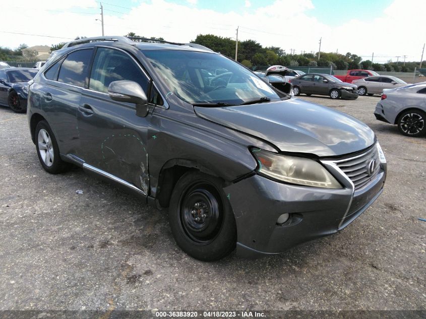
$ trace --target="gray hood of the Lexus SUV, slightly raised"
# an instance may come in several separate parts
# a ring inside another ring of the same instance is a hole
[[[296,98],[241,106],[195,106],[194,110],[202,118],[261,138],[283,152],[336,156],[375,142],[370,127],[356,118]]]

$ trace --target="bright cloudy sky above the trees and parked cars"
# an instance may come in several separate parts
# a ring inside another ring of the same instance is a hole
[[[105,35],[135,32],[189,42],[197,34],[253,39],[287,53],[351,52],[384,63],[419,61],[425,0],[107,0]],[[98,19],[98,20],[96,20]],[[2,6],[0,46],[102,35],[100,2],[21,0]],[[399,58],[397,57],[399,56]],[[426,59],[426,54],[423,56]]]

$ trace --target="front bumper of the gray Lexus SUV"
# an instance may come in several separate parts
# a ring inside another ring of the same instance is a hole
[[[280,253],[338,232],[373,204],[383,192],[385,179],[386,164],[368,185],[355,192],[350,187],[284,184],[260,175],[225,187],[237,226],[237,254],[257,258]],[[277,219],[284,213],[290,214],[289,221],[279,226]]]

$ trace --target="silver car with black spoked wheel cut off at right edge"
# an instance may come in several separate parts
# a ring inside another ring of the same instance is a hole
[[[397,124],[405,136],[426,135],[426,82],[383,90],[374,115],[378,120]]]

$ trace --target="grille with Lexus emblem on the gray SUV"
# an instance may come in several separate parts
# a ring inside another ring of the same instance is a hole
[[[372,163],[372,160],[375,160]],[[335,161],[336,165],[350,178],[355,190],[367,185],[380,170],[380,157],[377,145],[366,153],[344,160]]]

